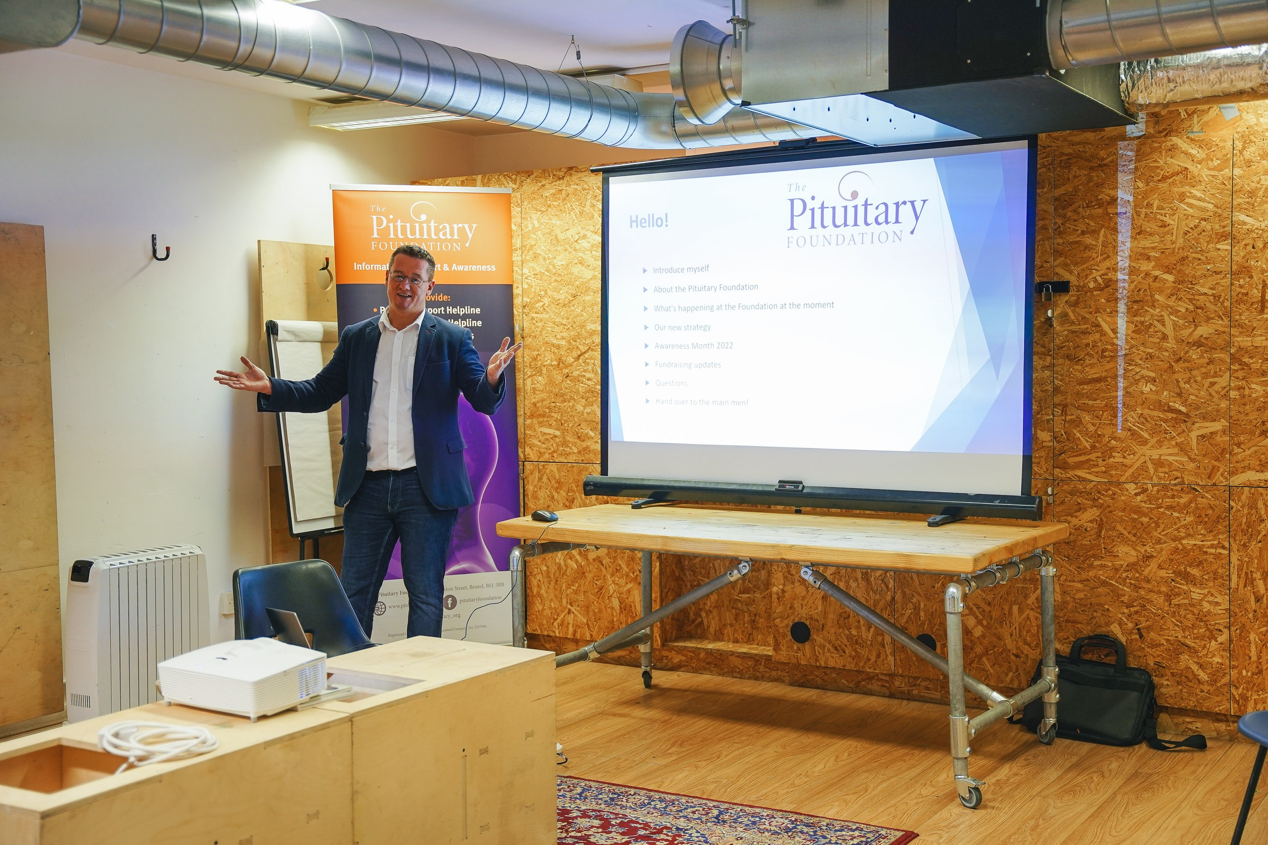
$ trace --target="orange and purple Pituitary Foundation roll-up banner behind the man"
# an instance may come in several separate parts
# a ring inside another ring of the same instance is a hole
[[[470,329],[484,364],[515,337],[511,302],[511,191],[502,187],[331,185],[335,205],[335,279],[339,329],[378,319],[387,308],[385,272],[392,251],[416,243],[436,258],[427,309]],[[514,362],[502,378],[515,385]],[[345,405],[346,408],[346,405]],[[487,417],[458,402],[458,427],[476,502],[458,513],[445,561],[444,636],[511,641],[514,540],[495,526],[520,511],[515,390]],[[344,418],[347,424],[346,409]],[[374,609],[375,642],[406,633],[408,597],[396,547]]]

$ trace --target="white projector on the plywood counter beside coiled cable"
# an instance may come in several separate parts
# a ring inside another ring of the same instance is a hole
[[[268,637],[230,640],[158,664],[165,701],[254,722],[326,689],[326,654]]]

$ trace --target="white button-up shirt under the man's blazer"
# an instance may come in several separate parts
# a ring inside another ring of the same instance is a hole
[[[418,353],[424,308],[418,319],[397,331],[388,322],[388,309],[379,315],[379,350],[374,357],[374,388],[370,393],[365,469],[407,470],[413,454],[413,359]]]

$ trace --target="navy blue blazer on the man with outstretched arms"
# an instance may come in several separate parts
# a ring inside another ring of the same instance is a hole
[[[339,336],[330,364],[307,381],[270,379],[273,395],[256,394],[260,410],[320,413],[347,397],[347,431],[344,464],[339,470],[335,504],[347,504],[365,476],[369,460],[370,394],[374,359],[379,352],[379,318],[349,326]],[[474,500],[458,431],[458,393],[472,408],[492,414],[506,398],[506,378],[495,390],[484,378],[469,329],[454,326],[430,310],[418,331],[413,360],[413,454],[418,480],[436,508],[460,508]]]

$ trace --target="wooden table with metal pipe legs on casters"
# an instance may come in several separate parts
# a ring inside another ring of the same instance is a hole
[[[969,775],[969,741],[990,725],[1019,712],[1027,703],[1044,701],[1038,741],[1056,736],[1056,633],[1054,589],[1056,568],[1047,549],[1069,536],[1058,522],[970,519],[932,528],[922,518],[886,514],[819,516],[742,508],[656,507],[633,509],[624,504],[597,504],[560,511],[559,521],[534,522],[527,517],[497,524],[502,537],[520,540],[511,550],[512,626],[516,646],[525,645],[525,562],[572,549],[624,549],[643,555],[643,616],[619,631],[571,654],[555,658],[567,666],[595,655],[638,646],[643,683],[652,683],[652,627],[748,575],[752,561],[792,564],[801,578],[822,590],[917,656],[947,675],[951,698],[951,765],[960,803],[981,804],[983,782]],[[711,580],[687,590],[658,608],[652,607],[652,555],[667,552],[729,557],[734,564]],[[894,573],[943,575],[947,619],[947,655],[917,640],[865,603],[837,587],[817,568],[855,568]],[[995,587],[1038,570],[1042,671],[1040,679],[1012,698],[964,670],[964,635],[960,622],[970,593]],[[987,709],[973,718],[965,692],[980,698]]]

